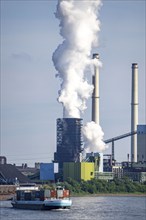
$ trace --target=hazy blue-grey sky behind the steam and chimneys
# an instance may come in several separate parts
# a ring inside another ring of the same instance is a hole
[[[84,0],[83,0],[84,2]],[[146,2],[103,0],[99,12],[100,125],[104,140],[130,132],[131,66],[139,68],[139,124],[146,124]],[[56,0],[1,0],[1,146],[8,163],[51,162],[56,151],[60,81],[52,55],[62,43]],[[91,75],[88,75],[91,82]],[[91,98],[82,115],[91,121]],[[111,145],[104,152],[111,153]],[[130,138],[115,142],[117,161],[127,160]]]

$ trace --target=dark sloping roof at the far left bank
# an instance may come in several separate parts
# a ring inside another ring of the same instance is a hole
[[[19,183],[29,182],[29,179],[24,176],[15,165],[0,164],[0,183],[15,183],[16,178]]]

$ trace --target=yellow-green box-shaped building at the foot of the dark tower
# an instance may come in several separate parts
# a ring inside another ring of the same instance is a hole
[[[68,177],[76,181],[87,181],[94,178],[93,162],[77,162],[77,163],[64,163],[63,164],[63,180],[67,180]]]

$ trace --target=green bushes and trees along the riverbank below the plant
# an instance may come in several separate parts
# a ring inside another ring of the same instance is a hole
[[[114,179],[112,181],[92,179],[78,182],[71,178],[59,183],[69,189],[72,195],[98,194],[98,193],[146,193],[146,182],[132,182],[129,178]]]

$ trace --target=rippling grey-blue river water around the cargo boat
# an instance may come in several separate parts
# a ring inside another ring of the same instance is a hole
[[[146,197],[74,197],[70,210],[32,211],[0,202],[0,220],[146,220]]]

